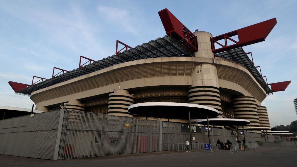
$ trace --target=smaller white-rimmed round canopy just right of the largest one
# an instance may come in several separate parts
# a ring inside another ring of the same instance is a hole
[[[198,124],[207,125],[206,119],[199,119],[196,121]],[[251,122],[246,119],[232,119],[232,118],[210,118],[208,119],[209,125],[218,125],[218,126],[234,126],[235,123],[237,125],[247,125]]]

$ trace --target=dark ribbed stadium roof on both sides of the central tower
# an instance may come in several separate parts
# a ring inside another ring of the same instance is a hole
[[[32,92],[52,86],[70,79],[92,73],[110,67],[116,64],[129,62],[139,59],[149,59],[156,57],[174,57],[174,56],[193,56],[193,53],[187,50],[187,48],[178,42],[173,37],[165,35],[162,38],[157,38],[156,40],[151,40],[148,43],[143,43],[142,45],[135,46],[135,48],[130,48],[128,51],[123,51],[117,55],[108,56],[97,62],[85,65],[81,68],[69,71],[67,73],[58,75],[54,78],[36,83],[32,86],[20,89],[16,91],[16,94],[30,95]],[[255,77],[258,83],[263,87],[267,94],[272,94],[271,89],[268,87],[267,83],[264,81],[254,64],[251,62],[247,54],[242,48],[233,49],[230,51],[218,53],[215,56],[222,57],[225,59],[236,61],[244,65]]]

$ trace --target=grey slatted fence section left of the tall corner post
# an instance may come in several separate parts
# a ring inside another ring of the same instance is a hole
[[[59,112],[0,120],[0,145],[4,146],[4,154],[52,159]]]

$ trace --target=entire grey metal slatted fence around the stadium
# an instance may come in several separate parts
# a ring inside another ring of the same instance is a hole
[[[207,140],[201,130],[192,136]],[[176,122],[65,109],[0,120],[0,154],[50,160],[184,150],[188,137]],[[204,144],[192,143],[191,149],[203,150]],[[210,147],[219,151],[215,143]]]

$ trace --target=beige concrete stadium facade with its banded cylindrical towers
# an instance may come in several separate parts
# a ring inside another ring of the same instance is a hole
[[[261,105],[266,91],[259,81],[244,65],[216,57],[211,50],[212,34],[194,34],[199,51],[193,57],[123,62],[39,89],[30,98],[40,111],[64,105],[70,110],[143,119],[145,114],[133,115],[128,106],[143,102],[192,103],[217,109],[218,118],[247,119],[251,124],[246,127],[270,128],[267,109]],[[80,120],[79,115],[72,117]]]

